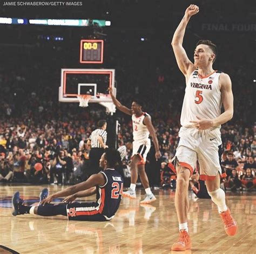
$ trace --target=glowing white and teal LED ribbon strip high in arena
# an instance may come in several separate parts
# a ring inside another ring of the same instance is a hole
[[[56,25],[56,26],[110,26],[109,20],[102,19],[27,19],[27,18],[5,18],[0,17],[0,24],[10,25]]]

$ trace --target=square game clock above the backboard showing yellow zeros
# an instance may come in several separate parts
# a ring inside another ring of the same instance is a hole
[[[102,64],[103,63],[103,40],[81,40],[80,63]]]

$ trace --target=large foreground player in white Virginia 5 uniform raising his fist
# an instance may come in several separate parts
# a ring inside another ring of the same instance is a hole
[[[208,194],[217,205],[227,235],[237,233],[237,223],[226,206],[225,193],[220,189],[221,148],[220,125],[232,119],[233,94],[230,77],[213,70],[217,47],[210,40],[200,40],[194,50],[192,63],[182,46],[188,21],[199,12],[197,5],[190,5],[172,39],[173,51],[181,72],[186,78],[186,90],[181,111],[179,145],[175,155],[177,189],[175,207],[180,236],[172,245],[173,251],[191,249],[187,227],[188,182],[200,164],[200,179],[205,180]],[[221,105],[224,113],[221,113]]]

